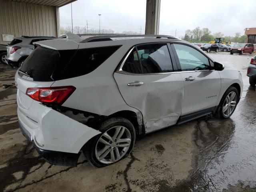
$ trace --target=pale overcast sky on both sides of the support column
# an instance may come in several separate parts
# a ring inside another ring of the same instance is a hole
[[[185,30],[207,27],[212,33],[234,36],[256,27],[255,0],[161,0],[160,34],[184,36]],[[112,29],[115,32],[145,30],[146,0],[77,0],[72,3],[73,26]],[[60,8],[60,26],[71,26],[71,4]]]

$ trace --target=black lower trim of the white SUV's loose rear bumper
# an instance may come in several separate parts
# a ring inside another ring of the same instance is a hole
[[[59,152],[59,151],[51,151],[51,150],[44,150],[36,146],[35,142],[32,139],[32,136],[26,128],[22,125],[19,120],[20,130],[22,134],[27,138],[28,141],[34,144],[36,151],[40,154],[48,163],[60,166],[71,166],[76,167],[78,158],[80,156],[80,152],[76,153],[66,153],[66,152]]]

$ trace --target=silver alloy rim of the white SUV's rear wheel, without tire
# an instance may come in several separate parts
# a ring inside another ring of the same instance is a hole
[[[132,137],[124,126],[114,126],[100,136],[95,147],[96,158],[104,164],[120,160],[129,150]]]

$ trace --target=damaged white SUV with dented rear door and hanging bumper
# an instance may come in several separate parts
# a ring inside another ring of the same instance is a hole
[[[160,35],[62,38],[16,73],[24,136],[50,163],[95,166],[127,156],[136,138],[208,114],[229,118],[242,76],[196,46]]]

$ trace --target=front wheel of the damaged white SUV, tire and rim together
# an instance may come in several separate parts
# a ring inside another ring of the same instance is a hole
[[[233,95],[233,93],[235,94],[234,98],[232,99],[232,101],[230,103],[227,102],[228,101],[228,100],[226,100],[227,96],[231,97]],[[220,100],[220,104],[216,111],[216,116],[221,119],[230,118],[230,116],[234,113],[234,111],[236,109],[238,101],[239,101],[238,90],[235,87],[232,87],[232,86],[229,87],[228,90],[226,90],[226,92],[224,93],[224,95],[222,96],[222,98]],[[235,102],[235,104],[234,104],[234,102]],[[227,108],[225,106],[227,106]],[[226,108],[226,110],[225,110],[225,108]]]

